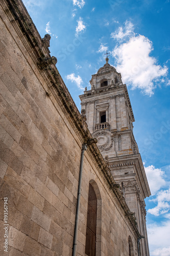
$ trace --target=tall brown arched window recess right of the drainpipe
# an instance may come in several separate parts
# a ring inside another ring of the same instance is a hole
[[[93,186],[89,183],[86,246],[85,246],[85,253],[88,256],[95,256],[96,216],[97,216],[97,198],[96,198]]]

